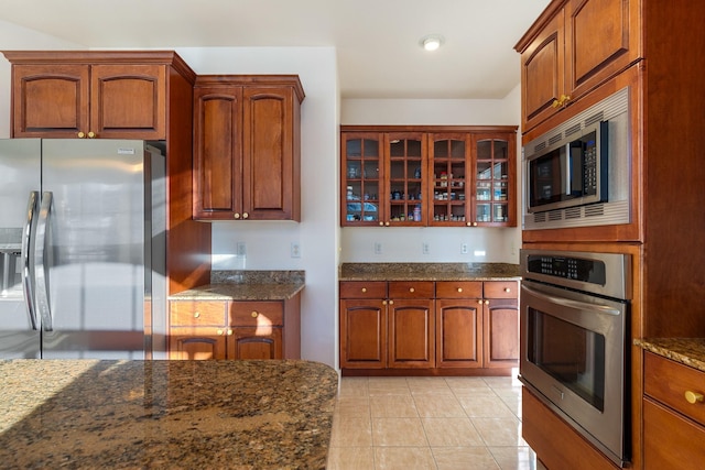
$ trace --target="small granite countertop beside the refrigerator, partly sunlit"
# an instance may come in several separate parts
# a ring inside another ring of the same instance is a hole
[[[171,295],[170,300],[286,300],[305,285],[303,271],[214,271],[210,284]]]

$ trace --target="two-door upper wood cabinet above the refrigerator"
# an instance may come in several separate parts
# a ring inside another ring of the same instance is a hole
[[[12,63],[13,138],[164,140],[170,67],[187,69],[159,51],[4,55]]]

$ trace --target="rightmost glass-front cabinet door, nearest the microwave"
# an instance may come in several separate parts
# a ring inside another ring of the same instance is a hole
[[[474,210],[473,225],[516,226],[514,134],[478,134],[474,138]]]

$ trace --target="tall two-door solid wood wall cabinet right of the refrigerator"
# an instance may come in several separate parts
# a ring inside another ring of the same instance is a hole
[[[199,76],[194,218],[301,220],[297,76]]]

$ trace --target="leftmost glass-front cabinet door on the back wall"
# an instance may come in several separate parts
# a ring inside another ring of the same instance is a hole
[[[340,210],[344,226],[378,226],[387,203],[381,133],[343,133]]]

